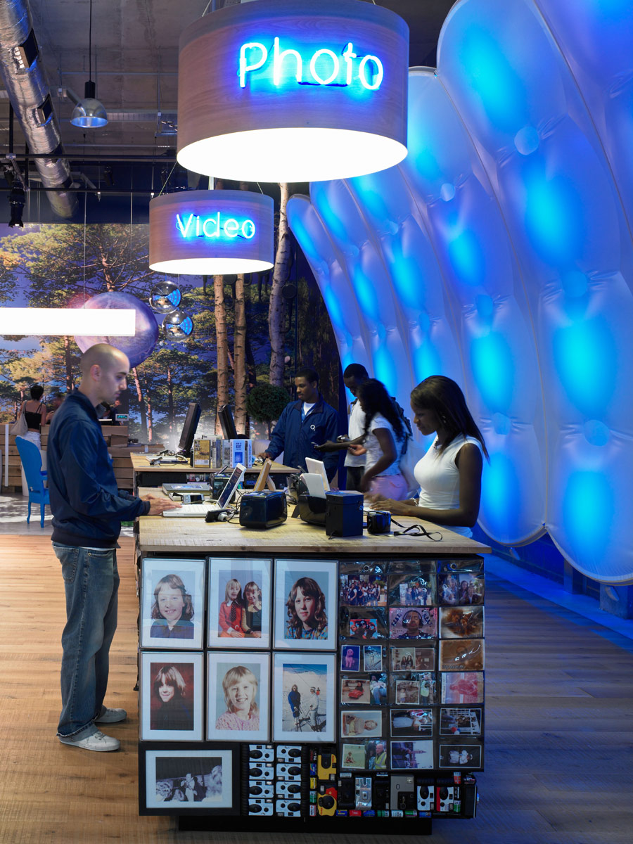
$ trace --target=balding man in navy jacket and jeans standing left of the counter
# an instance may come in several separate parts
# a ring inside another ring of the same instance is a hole
[[[121,522],[159,516],[174,506],[168,499],[142,500],[116,488],[98,411],[127,389],[129,366],[125,354],[105,343],[85,352],[81,383],[55,412],[46,450],[52,543],[66,589],[57,738],[85,750],[118,749],[119,740],[96,725],[127,717],[124,709],[108,709],[103,702],[116,630]]]

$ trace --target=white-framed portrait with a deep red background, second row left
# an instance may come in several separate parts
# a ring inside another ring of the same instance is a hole
[[[202,653],[141,652],[139,706],[143,741],[201,741],[203,700]]]

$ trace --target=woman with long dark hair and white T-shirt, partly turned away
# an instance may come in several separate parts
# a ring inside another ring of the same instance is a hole
[[[350,445],[349,451],[365,453],[360,491],[401,500],[407,495],[407,482],[398,466],[406,435],[403,421],[385,385],[376,378],[360,384],[358,398],[365,413],[363,444]]]

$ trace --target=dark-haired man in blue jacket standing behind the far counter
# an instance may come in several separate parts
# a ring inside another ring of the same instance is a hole
[[[327,404],[319,392],[319,376],[311,369],[297,372],[295,387],[298,402],[290,402],[282,411],[268,449],[260,457],[274,460],[284,452],[286,466],[306,472],[306,457],[314,457],[325,464],[327,478],[332,480],[338,467],[338,452],[317,452],[327,440],[336,440],[340,433],[338,413]]]

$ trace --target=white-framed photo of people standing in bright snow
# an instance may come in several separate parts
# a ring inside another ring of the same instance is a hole
[[[273,741],[333,742],[334,654],[275,653],[273,660]]]

